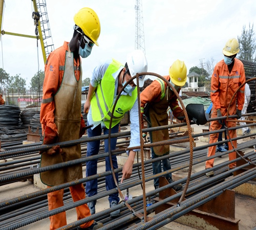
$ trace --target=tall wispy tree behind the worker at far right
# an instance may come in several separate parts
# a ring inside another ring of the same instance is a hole
[[[243,26],[242,35],[240,37],[238,36],[238,41],[240,44],[240,52],[238,53],[238,58],[247,61],[256,61],[256,56],[253,59],[253,54],[256,50],[253,24],[251,27],[249,24],[249,30],[246,30],[246,27]]]

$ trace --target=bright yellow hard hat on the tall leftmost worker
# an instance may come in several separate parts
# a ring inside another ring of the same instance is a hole
[[[75,14],[74,21],[82,29],[83,33],[99,46],[97,39],[100,35],[100,22],[95,11],[84,7]]]

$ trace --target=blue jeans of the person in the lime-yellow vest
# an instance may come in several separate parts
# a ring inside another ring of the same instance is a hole
[[[89,124],[88,124],[88,126],[89,126]],[[111,133],[118,132],[118,128],[119,128],[119,124],[117,124],[116,126],[114,126],[111,129]],[[94,129],[89,128],[88,129],[88,137],[99,136],[99,135],[101,135],[101,131],[102,131],[101,125],[98,125]],[[104,128],[103,134],[109,134],[109,129]],[[110,144],[111,150],[116,149],[116,143],[117,143],[117,137],[112,138],[111,144]],[[87,156],[97,155],[99,152],[99,146],[100,146],[100,141],[88,142],[87,143]],[[109,152],[109,140],[108,139],[104,140],[104,150],[105,150],[105,152]],[[96,159],[96,160],[90,160],[89,162],[86,163],[86,176],[87,177],[97,174],[97,162],[98,162],[98,160]],[[112,156],[112,163],[113,163],[113,168],[117,169],[118,165],[117,165],[116,155]],[[111,171],[109,156],[105,157],[105,171]],[[115,175],[116,175],[116,180],[118,181],[118,173],[116,173]],[[106,176],[105,183],[106,183],[107,191],[116,188],[115,181],[114,181],[112,174],[109,176]],[[86,182],[87,196],[90,197],[90,196],[97,195],[97,193],[98,193],[97,190],[98,190],[98,180],[97,179],[90,180],[90,181]],[[120,199],[118,197],[118,192],[109,196],[109,202],[116,201],[118,203],[119,200]]]

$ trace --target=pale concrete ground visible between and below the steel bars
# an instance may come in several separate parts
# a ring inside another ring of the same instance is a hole
[[[193,125],[194,128],[193,133],[201,133],[203,126],[198,126],[198,125]],[[129,127],[128,127],[129,128]],[[196,140],[196,145],[205,145],[206,143],[200,141],[200,139]],[[239,140],[238,143],[242,143],[243,140]],[[251,149],[244,149],[244,151],[251,151]],[[227,160],[228,156],[225,155],[222,158],[217,158],[215,160],[215,164],[221,163],[225,160]],[[98,163],[98,173],[99,172],[104,172],[105,170],[105,164],[104,162]],[[193,173],[204,170],[204,163],[198,164],[196,166],[193,166]],[[85,169],[83,170],[84,176],[85,176]],[[177,178],[185,177],[187,176],[187,171],[182,170],[178,171],[176,173],[173,173],[173,178],[176,180]],[[252,183],[255,183],[254,181],[251,181]],[[146,182],[146,192],[147,191],[152,191],[154,189],[153,186],[153,181],[148,181]],[[34,184],[27,180],[24,182],[15,182],[15,183],[10,183],[5,186],[0,187],[0,201],[4,200],[9,200],[15,197],[19,197],[22,195],[26,195],[35,191],[39,191],[40,189],[34,186]],[[123,191],[124,192],[124,191]],[[135,197],[138,195],[142,194],[142,189],[141,186],[134,187],[132,191],[130,191],[130,194]],[[123,193],[124,195],[124,193]],[[236,218],[240,219],[239,222],[239,229],[240,230],[251,230],[256,227],[256,198],[251,197],[251,196],[245,196],[236,193],[236,208],[235,208],[235,213],[236,213]],[[96,212],[105,210],[109,208],[109,201],[106,197],[101,198],[97,200],[96,204]],[[72,209],[66,212],[67,215],[67,222],[71,223],[76,221],[76,210]],[[150,214],[151,216],[154,216],[154,213]],[[178,220],[177,220],[178,221]],[[165,226],[161,227],[160,229],[172,229],[172,230],[190,230],[190,229],[197,229],[193,228],[191,226],[187,226],[184,224],[181,224],[177,221],[170,222],[166,224]],[[43,219],[39,220],[37,222],[34,222],[30,225],[21,227],[19,229],[23,230],[32,230],[32,229],[37,229],[37,230],[45,230],[49,229],[49,224],[50,221],[49,219]],[[0,227],[1,228],[1,227]],[[216,229],[216,228],[208,228],[208,229]],[[207,230],[208,230],[207,229]]]

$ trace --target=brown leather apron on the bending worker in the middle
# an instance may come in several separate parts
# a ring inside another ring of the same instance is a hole
[[[151,127],[158,127],[162,125],[168,125],[168,114],[167,109],[169,106],[169,99],[170,99],[170,89],[167,86],[167,89],[165,90],[164,98],[157,102],[157,103],[151,103],[148,114],[146,116],[150,118]],[[168,129],[164,130],[157,130],[150,133],[151,140],[153,143],[169,140],[169,132]],[[155,146],[153,147],[154,153],[156,155],[163,155],[165,153],[169,152],[169,145],[162,145],[162,146]]]

